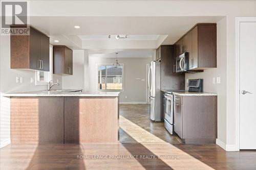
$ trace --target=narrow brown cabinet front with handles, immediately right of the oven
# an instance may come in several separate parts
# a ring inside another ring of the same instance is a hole
[[[178,100],[177,100],[178,99]],[[182,131],[182,98],[174,96],[174,131],[183,138]]]

